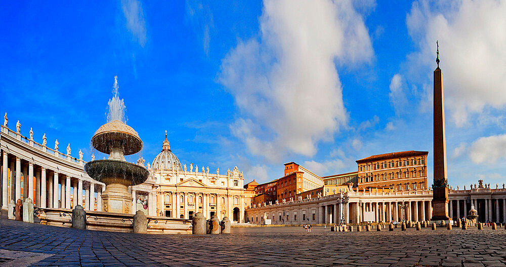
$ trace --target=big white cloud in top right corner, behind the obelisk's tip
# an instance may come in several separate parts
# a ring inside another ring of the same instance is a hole
[[[487,106],[504,108],[506,1],[434,5],[415,2],[407,15],[409,34],[419,46],[418,52],[408,55],[411,72],[419,73],[420,67],[435,68],[439,40],[445,106],[455,124],[466,125],[470,112],[480,113]]]

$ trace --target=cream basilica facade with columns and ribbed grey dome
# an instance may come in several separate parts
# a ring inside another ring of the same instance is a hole
[[[161,152],[154,158],[150,179],[154,181],[158,216],[191,219],[197,212],[206,218],[216,214],[221,220],[244,222],[244,177],[237,167],[220,174],[209,167],[181,165],[171,151],[165,134]]]

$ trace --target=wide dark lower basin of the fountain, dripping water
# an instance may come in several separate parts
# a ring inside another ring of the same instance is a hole
[[[125,185],[137,185],[146,181],[149,171],[137,164],[117,160],[96,160],[85,165],[85,171],[93,179],[108,184],[111,181]]]

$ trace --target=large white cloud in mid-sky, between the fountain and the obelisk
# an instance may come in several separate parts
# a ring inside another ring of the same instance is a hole
[[[349,1],[265,1],[260,26],[260,37],[239,41],[218,75],[241,111],[232,132],[270,160],[312,156],[347,124],[335,64],[370,62],[367,28]]]

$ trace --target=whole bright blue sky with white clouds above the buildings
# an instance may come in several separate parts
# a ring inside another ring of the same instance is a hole
[[[448,179],[502,184],[506,1],[12,2],[0,9],[0,111],[89,160],[114,75],[151,162],[168,131],[182,163],[245,181],[295,161],[318,175],[429,151],[441,51]]]

